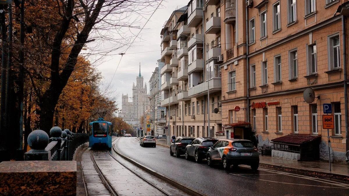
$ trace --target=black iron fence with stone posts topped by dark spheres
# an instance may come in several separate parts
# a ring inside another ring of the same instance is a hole
[[[32,131],[28,136],[31,150],[24,153],[24,160],[73,160],[75,149],[89,138],[89,134],[62,131],[60,127],[52,127],[50,135],[43,130]]]

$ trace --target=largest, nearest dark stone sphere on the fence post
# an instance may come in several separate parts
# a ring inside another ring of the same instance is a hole
[[[28,135],[28,145],[31,149],[43,150],[48,144],[49,135],[43,130],[35,130]]]

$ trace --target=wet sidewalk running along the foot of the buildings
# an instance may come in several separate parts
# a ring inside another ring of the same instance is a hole
[[[167,146],[166,141],[157,141],[157,144]],[[294,161],[275,158],[271,156],[259,156],[259,163],[264,167],[274,167],[281,169],[298,170],[302,172],[314,172],[321,174],[332,174],[349,179],[349,164],[345,163],[331,163],[331,172],[329,171],[329,164],[326,161]]]

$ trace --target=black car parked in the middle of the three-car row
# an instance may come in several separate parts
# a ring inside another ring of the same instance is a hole
[[[185,158],[194,157],[196,163],[206,158],[208,149],[218,141],[216,137],[198,137],[185,147]]]

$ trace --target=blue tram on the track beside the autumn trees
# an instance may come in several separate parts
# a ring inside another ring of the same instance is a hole
[[[89,147],[106,146],[111,149],[111,134],[113,124],[98,118],[97,121],[90,122]]]

